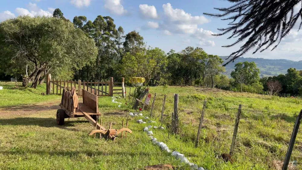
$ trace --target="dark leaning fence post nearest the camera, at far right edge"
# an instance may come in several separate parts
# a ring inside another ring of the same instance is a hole
[[[296,119],[296,122],[295,122],[295,125],[294,125],[294,130],[293,130],[293,133],[291,134],[291,140],[289,142],[288,150],[286,152],[285,160],[284,160],[284,163],[283,163],[283,166],[282,166],[282,170],[287,170],[289,161],[291,159],[291,152],[293,151],[295,140],[296,140],[297,133],[298,133],[298,130],[299,130],[299,126],[300,126],[300,123],[301,123],[301,118],[302,118],[302,110],[300,111],[300,113],[299,113],[299,115]]]

